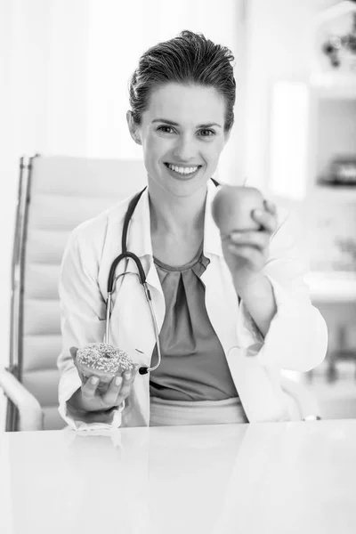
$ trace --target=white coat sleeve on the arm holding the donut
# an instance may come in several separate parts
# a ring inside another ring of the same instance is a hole
[[[123,403],[108,414],[93,412],[79,415],[68,402],[81,386],[77,368],[71,358],[70,347],[82,347],[100,342],[105,333],[105,301],[97,281],[99,260],[81,244],[78,229],[70,234],[61,261],[59,282],[61,309],[61,354],[57,360],[60,370],[59,412],[75,430],[112,429],[121,425]],[[85,242],[85,239],[82,239]]]

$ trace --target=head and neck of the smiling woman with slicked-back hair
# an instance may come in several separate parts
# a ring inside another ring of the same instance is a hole
[[[233,59],[183,31],[144,53],[132,77],[126,117],[142,145],[153,253],[164,263],[187,263],[203,240],[206,183],[234,120]]]

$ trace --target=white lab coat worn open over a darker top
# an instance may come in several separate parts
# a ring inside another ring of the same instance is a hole
[[[263,339],[245,303],[239,303],[223,259],[220,233],[211,214],[217,190],[209,181],[204,255],[210,263],[201,277],[206,287],[206,311],[223,345],[249,422],[286,420],[287,399],[280,387],[280,371],[282,368],[308,371],[319,365],[327,351],[327,327],[320,312],[312,306],[309,288],[303,280],[307,269],[288,230],[288,214],[279,209],[279,226],[271,237],[268,260],[263,268],[263,273],[271,280],[278,311]],[[75,429],[150,425],[149,374],[136,376],[131,395],[114,411],[112,423],[75,421],[69,416],[66,405],[81,384],[69,348],[99,342],[104,337],[109,268],[121,253],[123,222],[130,199],[80,224],[70,235],[61,263],[59,411]],[[127,244],[127,249],[142,261],[160,330],[165,317],[165,297],[152,259],[148,190],[143,192],[135,208]],[[120,277],[123,272],[125,276]],[[123,260],[117,266],[110,342],[125,350],[140,366],[150,367],[155,346],[154,329],[136,273],[132,260]]]

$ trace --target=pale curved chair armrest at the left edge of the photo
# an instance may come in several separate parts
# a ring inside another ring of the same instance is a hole
[[[40,403],[6,368],[0,368],[0,387],[19,410],[20,431],[44,429],[44,413]]]

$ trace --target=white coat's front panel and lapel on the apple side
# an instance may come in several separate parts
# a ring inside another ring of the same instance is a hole
[[[278,394],[279,369],[263,368],[256,358],[261,344],[256,343],[243,319],[242,304],[223,259],[220,231],[211,214],[215,191],[208,188],[206,197],[204,254],[211,259],[201,277],[206,284],[206,312],[223,345],[248,420],[282,421],[286,413]]]

